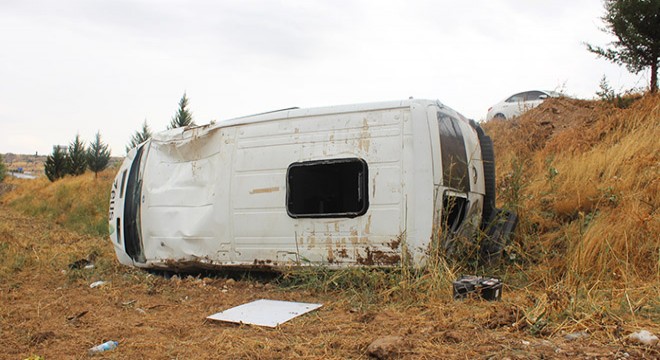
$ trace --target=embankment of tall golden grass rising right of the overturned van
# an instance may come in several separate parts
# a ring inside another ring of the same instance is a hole
[[[484,128],[498,200],[521,215],[519,255],[545,261],[555,280],[569,270],[599,281],[658,280],[660,96],[627,109],[550,99]]]

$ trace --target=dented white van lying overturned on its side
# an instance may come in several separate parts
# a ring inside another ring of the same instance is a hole
[[[122,264],[174,270],[423,265],[434,241],[479,234],[496,254],[516,216],[494,207],[493,161],[476,123],[429,100],[173,129],[124,160],[110,238]]]

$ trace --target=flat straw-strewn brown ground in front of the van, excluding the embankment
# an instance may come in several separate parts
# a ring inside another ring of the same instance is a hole
[[[93,254],[94,268],[70,269]],[[521,300],[364,304],[342,292],[291,290],[241,273],[166,278],[121,266],[107,239],[79,235],[0,205],[0,359],[657,359],[606,323],[567,340],[523,326]],[[107,284],[90,288],[97,280]],[[508,291],[508,293],[507,293]],[[526,295],[526,296],[529,296]],[[208,315],[257,299],[322,303],[278,326]],[[647,324],[648,325],[648,324]],[[653,325],[651,325],[653,326]],[[657,334],[656,328],[654,330]],[[590,331],[591,332],[591,331]],[[534,335],[535,334],[535,335]],[[374,350],[369,345],[389,337]],[[370,355],[370,353],[374,355]]]

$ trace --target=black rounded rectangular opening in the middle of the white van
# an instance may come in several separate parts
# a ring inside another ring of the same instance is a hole
[[[369,207],[368,178],[362,159],[293,163],[287,170],[287,213],[293,218],[363,215]]]

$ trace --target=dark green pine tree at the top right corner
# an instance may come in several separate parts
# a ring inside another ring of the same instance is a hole
[[[587,44],[587,50],[619,65],[632,73],[651,68],[651,92],[658,90],[660,59],[660,1],[605,0],[603,31],[616,36],[613,48]]]

